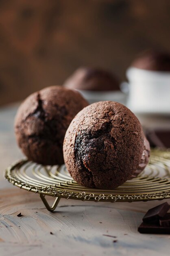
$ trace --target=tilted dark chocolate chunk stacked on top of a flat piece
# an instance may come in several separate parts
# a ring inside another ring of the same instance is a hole
[[[143,222],[146,222],[146,223],[156,221],[160,217],[165,216],[165,214],[169,209],[170,209],[170,205],[167,202],[163,204],[159,204],[158,206],[148,210],[142,220]]]

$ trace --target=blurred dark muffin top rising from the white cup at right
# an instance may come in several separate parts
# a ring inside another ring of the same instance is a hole
[[[136,58],[131,66],[143,70],[170,71],[170,54],[146,51]]]

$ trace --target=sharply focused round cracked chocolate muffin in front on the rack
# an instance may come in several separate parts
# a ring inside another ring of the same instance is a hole
[[[65,165],[77,183],[114,189],[135,172],[144,150],[144,133],[125,106],[100,101],[81,110],[64,139]]]

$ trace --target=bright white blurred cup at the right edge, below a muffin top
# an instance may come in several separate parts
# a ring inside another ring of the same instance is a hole
[[[170,114],[170,72],[156,72],[131,67],[128,108],[135,113]]]

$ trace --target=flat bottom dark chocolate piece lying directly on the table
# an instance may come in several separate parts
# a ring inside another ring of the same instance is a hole
[[[138,227],[138,231],[142,234],[170,234],[170,227],[161,227],[156,224],[142,222]]]

